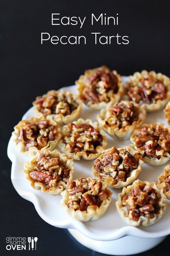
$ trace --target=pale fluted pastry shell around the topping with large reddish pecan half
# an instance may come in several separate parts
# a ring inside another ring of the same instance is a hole
[[[56,186],[53,189],[48,189],[47,186],[45,185],[45,183],[36,182],[29,175],[29,173],[35,167],[34,162],[37,161],[37,156],[38,156],[38,153],[40,153],[40,152],[41,151],[39,151],[35,147],[29,148],[31,160],[26,161],[24,163],[24,173],[26,174],[26,179],[30,181],[32,188],[34,188],[36,190],[41,188],[42,192],[45,192],[45,193],[48,193],[51,195],[59,195],[65,188],[67,188],[70,185],[70,183],[73,179],[73,172],[74,172],[73,159],[71,157],[67,157],[65,154],[61,154],[57,150],[49,151],[48,149],[45,149],[43,152],[41,152],[43,154],[48,154],[48,156],[58,156],[58,158],[60,159],[60,162],[63,162],[66,165],[66,167],[71,170],[69,173],[69,178],[68,178],[67,183],[65,183],[63,181],[59,181],[56,183]]]

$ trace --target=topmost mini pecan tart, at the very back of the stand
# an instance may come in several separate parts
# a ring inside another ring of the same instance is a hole
[[[124,89],[121,76],[106,66],[86,70],[75,83],[81,100],[93,109],[106,108],[119,101]]]

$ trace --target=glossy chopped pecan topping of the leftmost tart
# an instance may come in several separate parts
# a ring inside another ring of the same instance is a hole
[[[58,136],[58,126],[49,124],[48,120],[30,122],[27,120],[20,121],[18,124],[17,144],[22,142],[24,150],[30,147],[41,149],[49,141],[53,141]]]

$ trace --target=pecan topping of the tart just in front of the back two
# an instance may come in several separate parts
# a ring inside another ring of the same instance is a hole
[[[119,129],[132,125],[138,120],[139,105],[133,102],[121,101],[120,103],[108,108],[104,121],[109,127],[117,126]]]

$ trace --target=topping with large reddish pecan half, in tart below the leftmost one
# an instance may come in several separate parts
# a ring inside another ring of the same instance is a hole
[[[68,182],[71,170],[67,169],[58,156],[38,153],[34,165],[34,169],[29,173],[30,177],[36,182],[45,183],[48,189],[54,188],[59,181]]]

